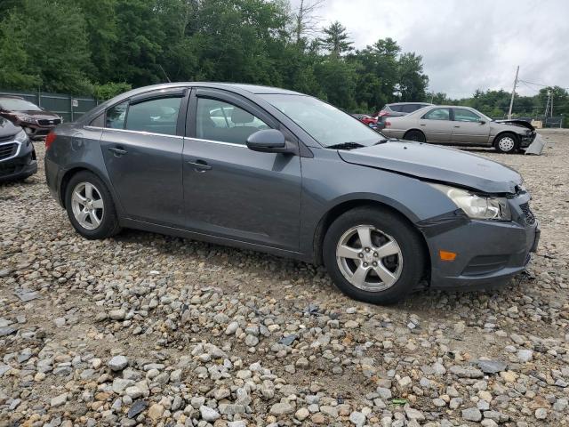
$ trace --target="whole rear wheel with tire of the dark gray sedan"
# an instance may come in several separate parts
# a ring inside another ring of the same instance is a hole
[[[69,221],[84,238],[109,238],[121,230],[113,197],[94,173],[82,171],[71,177],[65,207]]]

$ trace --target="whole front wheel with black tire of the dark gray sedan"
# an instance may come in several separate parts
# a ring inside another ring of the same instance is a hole
[[[417,232],[384,208],[360,207],[342,214],[326,232],[323,249],[334,284],[363,302],[404,299],[425,269]]]

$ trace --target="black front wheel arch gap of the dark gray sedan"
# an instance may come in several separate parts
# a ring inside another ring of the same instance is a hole
[[[357,207],[363,207],[363,206],[368,206],[368,207],[369,206],[372,206],[372,207],[375,206],[375,207],[381,207],[382,209],[386,209],[389,212],[396,214],[399,218],[404,220],[404,222],[406,222],[409,225],[410,229],[413,230],[421,240],[423,255],[425,257],[425,269],[426,269],[425,274],[428,275],[430,272],[430,266],[431,266],[431,260],[430,260],[430,256],[429,256],[429,254],[430,254],[429,245],[427,244],[427,240],[425,239],[425,236],[421,233],[421,230],[419,230],[415,226],[414,222],[416,222],[417,219],[413,217],[414,216],[413,213],[404,212],[403,209],[398,208],[398,206],[391,205],[391,204],[389,204],[389,202],[375,200],[372,198],[353,198],[353,199],[349,199],[349,200],[344,200],[341,203],[333,205],[333,207],[331,207],[322,216],[322,218],[318,222],[317,229],[316,229],[315,234],[314,234],[314,240],[313,240],[314,262],[316,262],[317,265],[322,265],[324,263],[324,260],[323,260],[324,238],[325,238],[327,230],[330,228],[332,223],[341,214],[344,214],[344,213],[348,212],[349,210],[355,209]]]

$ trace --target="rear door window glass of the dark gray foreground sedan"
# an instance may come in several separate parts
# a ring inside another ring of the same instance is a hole
[[[175,135],[180,103],[180,97],[172,97],[132,104],[128,109],[124,129]]]

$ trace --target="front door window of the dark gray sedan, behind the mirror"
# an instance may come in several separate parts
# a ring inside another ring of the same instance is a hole
[[[252,133],[269,128],[259,117],[233,104],[197,99],[196,138],[245,145]]]

